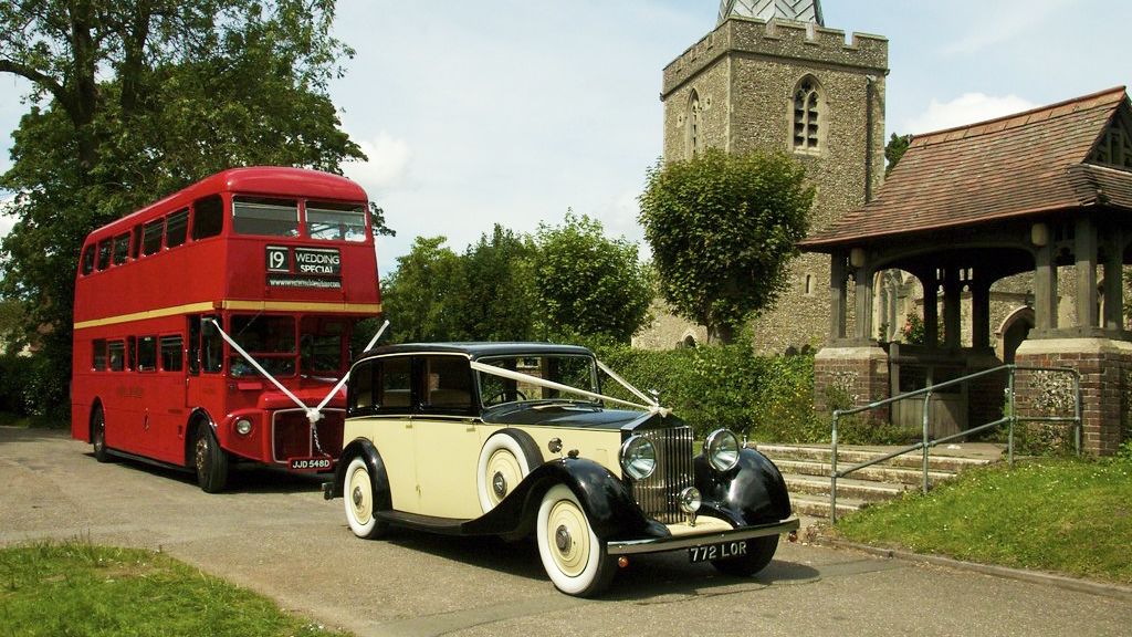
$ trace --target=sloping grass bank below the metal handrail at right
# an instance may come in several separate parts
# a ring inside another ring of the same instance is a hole
[[[846,540],[1132,585],[1132,460],[972,470],[840,520]]]

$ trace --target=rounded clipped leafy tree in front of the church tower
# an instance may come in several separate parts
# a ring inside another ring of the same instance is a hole
[[[658,163],[640,197],[660,289],[676,312],[732,342],[735,329],[771,306],[806,236],[814,187],[783,153],[709,148]]]

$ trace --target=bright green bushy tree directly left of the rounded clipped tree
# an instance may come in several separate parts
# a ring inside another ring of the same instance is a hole
[[[628,342],[653,297],[636,245],[606,238],[599,221],[573,212],[561,226],[539,224],[535,243],[534,289],[550,334]]]

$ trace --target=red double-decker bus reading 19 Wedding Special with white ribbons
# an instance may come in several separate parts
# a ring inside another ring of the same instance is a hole
[[[351,334],[381,307],[367,206],[343,177],[239,168],[92,232],[71,435],[208,492],[237,461],[333,467]]]

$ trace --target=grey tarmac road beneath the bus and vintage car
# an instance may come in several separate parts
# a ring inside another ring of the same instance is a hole
[[[784,543],[754,578],[653,555],[602,600],[576,600],[555,591],[532,542],[365,542],[320,478],[241,470],[208,495],[189,474],[101,465],[89,451],[63,432],[0,427],[0,544],[161,549],[359,637],[1132,635],[1129,601]]]

